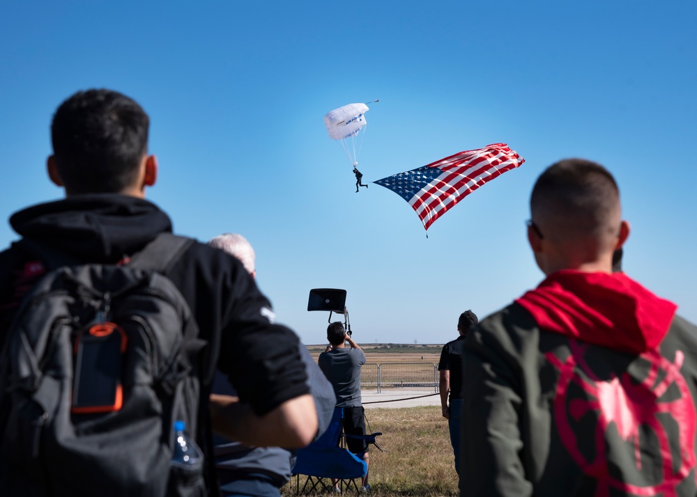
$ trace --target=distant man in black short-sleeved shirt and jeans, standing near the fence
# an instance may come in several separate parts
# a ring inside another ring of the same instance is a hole
[[[452,342],[443,345],[441,362],[438,363],[438,371],[441,372],[441,409],[443,418],[447,419],[450,429],[450,443],[455,455],[455,471],[460,473],[460,423],[462,413],[462,347],[464,338],[470,328],[477,324],[477,315],[471,310],[466,310],[457,320],[457,331],[460,336]],[[450,393],[450,405],[447,397]]]

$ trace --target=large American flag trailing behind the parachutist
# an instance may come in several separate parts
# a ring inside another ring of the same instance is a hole
[[[482,184],[523,164],[525,159],[505,143],[464,150],[426,166],[377,180],[395,191],[419,215],[424,228]]]

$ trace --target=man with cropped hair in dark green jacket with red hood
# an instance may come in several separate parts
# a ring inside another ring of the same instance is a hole
[[[530,197],[546,278],[464,347],[461,482],[475,496],[694,496],[697,327],[622,272],[605,168],[553,164]]]

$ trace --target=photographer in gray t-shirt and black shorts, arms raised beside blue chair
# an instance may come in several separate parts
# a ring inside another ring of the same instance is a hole
[[[344,408],[344,433],[347,435],[365,435],[365,418],[360,400],[360,368],[365,364],[365,354],[344,330],[344,325],[337,321],[327,328],[329,345],[325,352],[319,354],[319,368],[329,379],[337,395],[337,407]],[[346,347],[346,342],[350,347]],[[364,439],[346,437],[346,445],[355,455],[368,464],[368,444]],[[369,492],[368,473],[362,479],[362,492]],[[338,482],[334,482],[334,491],[338,493]]]

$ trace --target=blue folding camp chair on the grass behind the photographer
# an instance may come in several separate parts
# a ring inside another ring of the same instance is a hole
[[[310,494],[315,490],[330,491],[333,487],[332,480],[339,480],[339,489],[342,489],[342,493],[349,490],[359,493],[360,489],[355,479],[363,478],[367,474],[368,465],[342,446],[345,445],[342,443],[343,422],[344,409],[337,407],[334,409],[334,416],[327,431],[307,447],[298,450],[296,465],[293,466],[298,494],[301,492]],[[375,437],[380,434],[366,435],[365,439],[369,443],[371,440],[375,443]],[[300,475],[307,475],[302,490]]]

